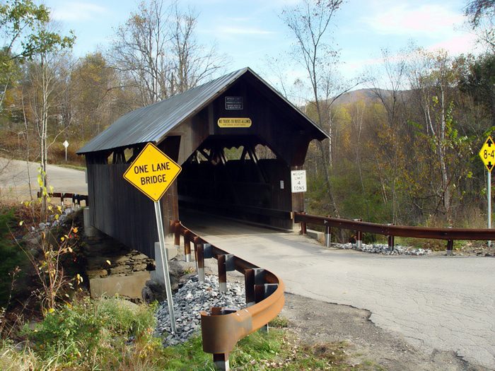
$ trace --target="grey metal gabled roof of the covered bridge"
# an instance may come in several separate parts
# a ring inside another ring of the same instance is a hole
[[[328,137],[328,134],[320,129],[320,126],[298,110],[296,106],[289,102],[289,100],[286,100],[272,86],[269,86],[267,82],[260,78],[260,76],[257,76],[249,67],[246,67],[245,69],[233,71],[201,86],[187,90],[184,93],[174,95],[166,100],[161,100],[153,105],[141,107],[124,114],[124,116],[117,119],[116,122],[86,143],[76,153],[83,154],[105,151],[112,148],[134,146],[135,144],[147,142],[158,144],[165,139],[168,132],[175,128],[175,126],[182,124],[186,119],[197,114],[197,112],[218,98],[219,95],[230,88],[235,81],[245,74],[254,76],[274,94],[278,95],[287,105],[293,110],[296,110],[302,119],[314,126],[322,138]]]

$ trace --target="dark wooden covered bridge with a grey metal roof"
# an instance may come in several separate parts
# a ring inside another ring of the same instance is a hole
[[[122,175],[146,143],[182,166],[161,199],[165,235],[182,208],[292,228],[303,193],[291,170],[327,134],[245,68],[125,114],[78,150],[86,156],[90,223],[154,258],[153,201]]]

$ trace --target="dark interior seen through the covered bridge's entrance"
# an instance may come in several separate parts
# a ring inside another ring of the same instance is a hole
[[[291,228],[289,175],[257,136],[209,136],[182,164],[179,207]]]

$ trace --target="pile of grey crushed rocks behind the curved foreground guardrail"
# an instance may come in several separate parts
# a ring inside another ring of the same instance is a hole
[[[244,284],[236,281],[227,283],[227,293],[219,293],[219,280],[216,276],[206,275],[204,283],[192,276],[173,295],[175,314],[175,334],[170,334],[170,316],[167,301],[160,303],[156,312],[156,333],[164,335],[163,344],[173,346],[187,341],[201,328],[199,312],[209,312],[211,307],[228,307],[235,310],[245,307]]]

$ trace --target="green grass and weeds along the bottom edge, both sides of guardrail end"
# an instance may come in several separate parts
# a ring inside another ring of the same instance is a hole
[[[25,326],[23,346],[0,342],[0,370],[214,370],[199,334],[163,348],[153,336],[153,306],[119,298],[76,300]],[[306,345],[284,318],[238,342],[229,360],[233,370],[372,370],[347,363],[345,343]],[[375,370],[375,368],[373,368]]]

